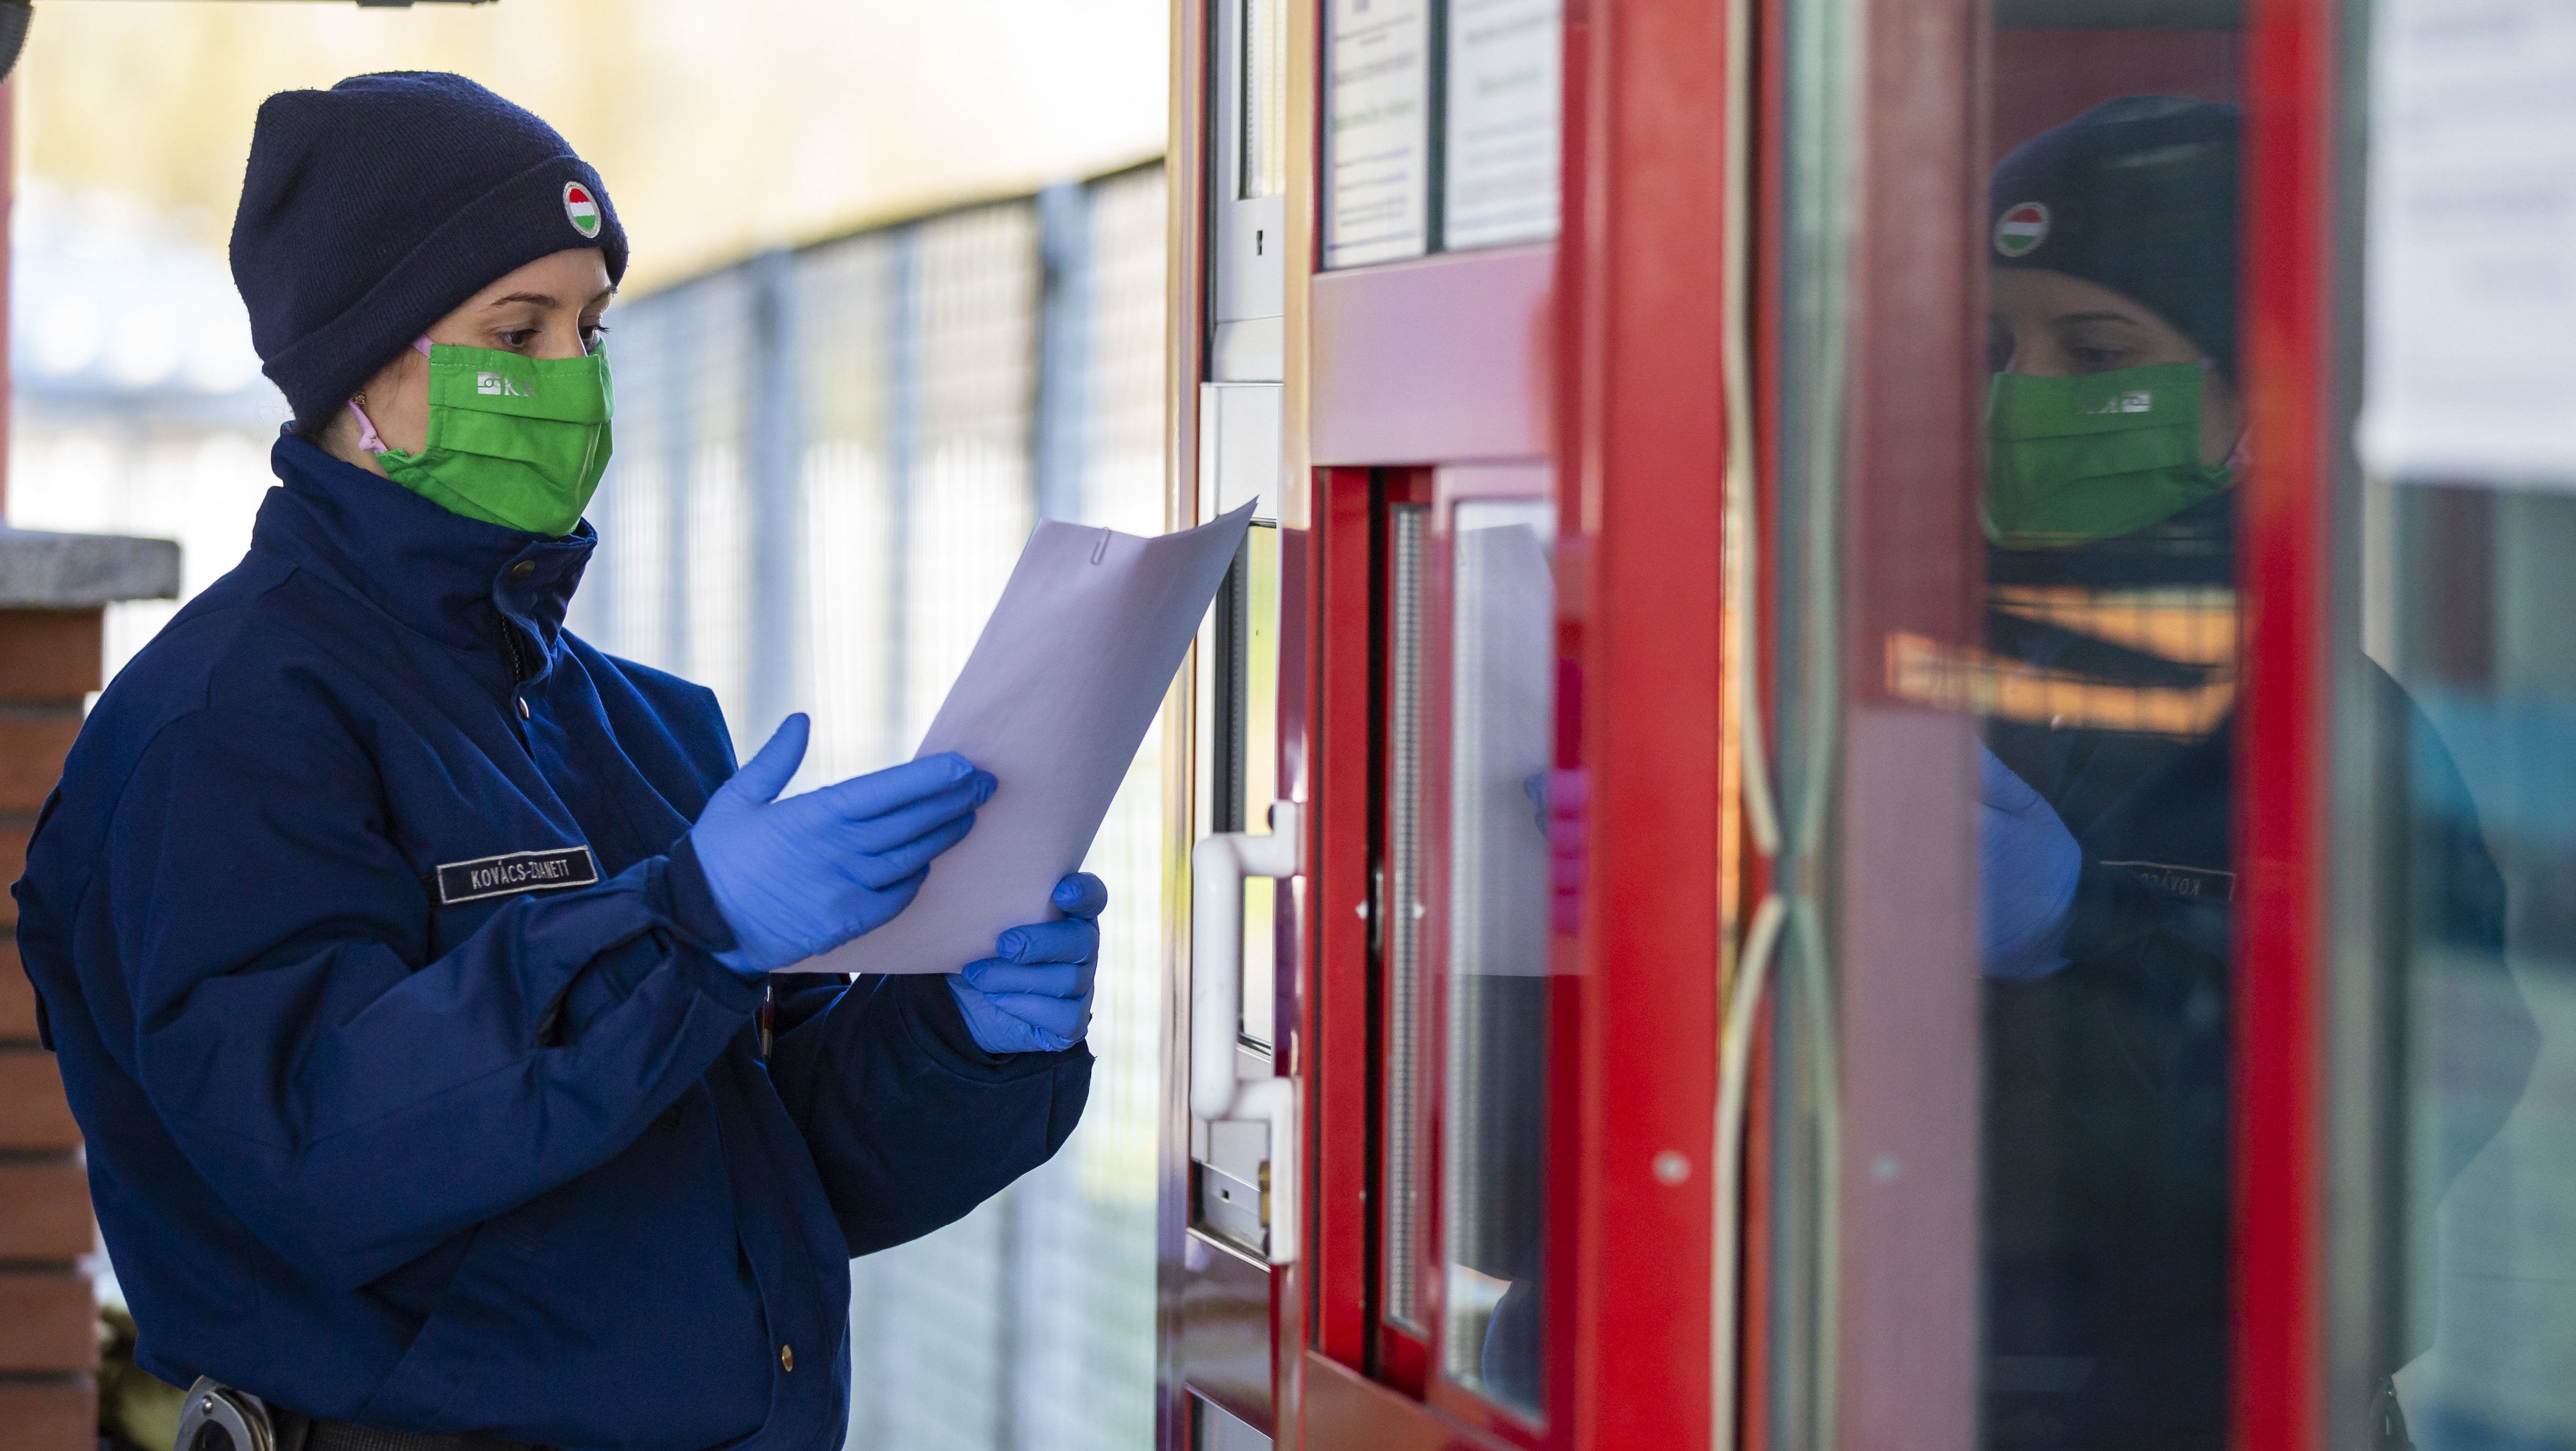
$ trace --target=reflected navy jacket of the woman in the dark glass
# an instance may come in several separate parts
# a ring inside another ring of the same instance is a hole
[[[2099,611],[2133,634],[2040,619],[2027,598],[1986,629],[1994,657],[2045,670],[2069,711],[1994,719],[1986,742],[2084,850],[2071,964],[1986,982],[1984,1412],[1989,1441],[2014,1451],[2228,1443],[2239,662],[2154,642],[2210,652],[2239,637],[2233,510],[2221,495],[2136,536],[1989,554],[1996,585],[2053,590],[2081,601],[2069,619]],[[2159,606],[2123,590],[2174,593]],[[2540,1039],[2504,966],[2504,879],[2468,786],[2396,680],[2344,665],[2367,678],[2403,771],[2411,894],[2391,918],[2442,943],[2411,972],[2509,1005],[2478,1021],[2434,1010],[2416,1031],[2437,1062],[2499,1064],[2519,1093]],[[2416,1173],[2434,1193],[2509,1108],[2445,1100],[2419,1121],[2434,1155]],[[2429,1222],[2432,1204],[2409,1211]]]

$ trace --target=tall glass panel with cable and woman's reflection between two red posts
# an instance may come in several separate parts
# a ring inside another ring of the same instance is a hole
[[[2246,36],[2208,0],[1762,31],[1728,1438],[2231,1446],[2275,668],[2239,539],[2285,448],[2239,273],[2300,245],[2244,227]]]

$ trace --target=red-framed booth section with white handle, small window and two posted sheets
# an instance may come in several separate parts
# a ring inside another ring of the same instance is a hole
[[[1164,1446],[1700,1443],[1726,52],[1700,0],[1180,15],[1180,497],[1280,508],[1270,742],[1260,531],[1193,678]]]

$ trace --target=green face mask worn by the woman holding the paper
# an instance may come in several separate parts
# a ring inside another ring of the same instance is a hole
[[[528,533],[572,533],[608,469],[608,356],[523,358],[430,348],[430,433],[376,464],[453,513]],[[358,415],[361,423],[366,415]],[[376,430],[368,425],[368,446]]]

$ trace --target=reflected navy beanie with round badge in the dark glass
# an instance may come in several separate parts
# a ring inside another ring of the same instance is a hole
[[[2236,371],[2233,106],[2123,95],[1996,162],[1986,245],[1999,268],[2048,268],[2156,309]]]

